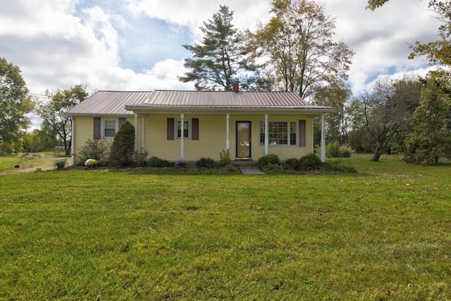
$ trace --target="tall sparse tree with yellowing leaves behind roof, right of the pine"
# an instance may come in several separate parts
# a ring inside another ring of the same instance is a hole
[[[249,32],[254,56],[266,58],[266,73],[279,90],[308,99],[323,85],[347,80],[354,53],[335,42],[335,20],[314,0],[273,0],[275,14],[257,32]]]

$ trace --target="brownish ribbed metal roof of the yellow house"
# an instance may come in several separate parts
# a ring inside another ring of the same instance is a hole
[[[311,109],[331,111],[329,106],[307,104],[294,92],[98,91],[68,111],[68,115],[130,115],[152,109]]]

